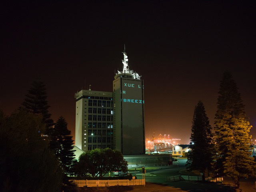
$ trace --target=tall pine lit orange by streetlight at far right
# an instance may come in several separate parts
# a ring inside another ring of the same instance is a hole
[[[241,177],[253,173],[255,163],[249,152],[250,123],[236,83],[229,72],[220,82],[218,110],[215,116],[216,172],[229,176],[239,189]]]

